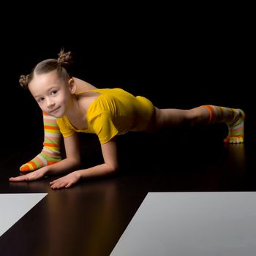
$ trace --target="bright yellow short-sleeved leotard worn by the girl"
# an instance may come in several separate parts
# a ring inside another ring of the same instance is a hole
[[[154,105],[145,97],[134,97],[119,88],[90,91],[100,95],[91,102],[87,110],[87,129],[75,129],[67,116],[57,118],[57,124],[64,137],[69,137],[75,132],[95,133],[99,142],[103,144],[116,135],[129,131],[143,131],[151,125]]]

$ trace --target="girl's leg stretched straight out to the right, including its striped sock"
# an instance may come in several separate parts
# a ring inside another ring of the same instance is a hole
[[[225,143],[244,142],[244,111],[214,105],[203,105],[191,110],[156,108],[156,129],[162,127],[195,126],[225,122],[228,135]]]

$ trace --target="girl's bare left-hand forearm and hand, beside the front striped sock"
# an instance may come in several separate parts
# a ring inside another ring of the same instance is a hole
[[[34,172],[26,175],[10,178],[10,181],[34,181],[44,176],[57,175],[60,173],[67,173],[71,170],[77,169],[80,165],[80,150],[78,135],[64,138],[65,150],[67,158],[57,162],[53,165],[46,165]]]

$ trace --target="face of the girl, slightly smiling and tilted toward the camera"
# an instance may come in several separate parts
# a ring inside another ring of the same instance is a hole
[[[29,91],[45,113],[56,118],[64,116],[72,97],[72,79],[65,83],[56,70],[35,75],[29,83]]]

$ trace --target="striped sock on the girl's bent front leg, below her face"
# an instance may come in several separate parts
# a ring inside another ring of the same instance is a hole
[[[41,153],[20,166],[21,172],[37,170],[45,165],[61,161],[60,143],[61,132],[56,124],[56,118],[43,113],[45,138]]]

